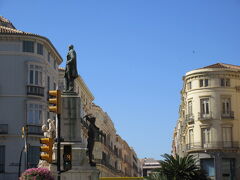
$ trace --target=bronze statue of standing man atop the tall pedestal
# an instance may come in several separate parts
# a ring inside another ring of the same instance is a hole
[[[65,69],[65,83],[66,83],[66,92],[74,91],[74,80],[78,77],[77,72],[77,55],[75,50],[73,49],[73,45],[69,46],[69,51],[67,54],[67,62]]]

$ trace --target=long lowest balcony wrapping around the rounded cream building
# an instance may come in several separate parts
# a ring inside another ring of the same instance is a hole
[[[206,149],[240,149],[238,141],[213,141],[208,143],[195,142],[186,144],[187,151]]]

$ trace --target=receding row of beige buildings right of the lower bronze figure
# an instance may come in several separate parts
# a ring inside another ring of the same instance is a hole
[[[102,132],[94,148],[100,177],[139,177],[140,163],[136,153],[118,134],[111,118],[93,104],[92,114]]]

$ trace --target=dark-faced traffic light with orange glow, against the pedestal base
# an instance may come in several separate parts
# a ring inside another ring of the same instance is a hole
[[[68,171],[72,169],[72,146],[65,145],[63,148],[63,169]]]

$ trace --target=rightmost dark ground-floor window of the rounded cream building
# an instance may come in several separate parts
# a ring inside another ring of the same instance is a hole
[[[235,179],[235,159],[222,159],[222,177],[223,179]]]

